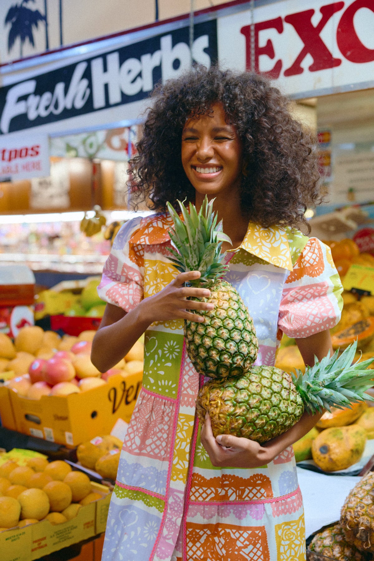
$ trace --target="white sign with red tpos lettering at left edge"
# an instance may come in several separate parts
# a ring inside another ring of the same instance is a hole
[[[49,176],[46,134],[0,136],[0,181]]]

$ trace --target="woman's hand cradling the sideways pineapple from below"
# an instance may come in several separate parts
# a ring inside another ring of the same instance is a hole
[[[254,468],[264,466],[274,459],[269,448],[262,447],[254,440],[229,434],[214,438],[208,413],[201,429],[201,443],[215,467]]]

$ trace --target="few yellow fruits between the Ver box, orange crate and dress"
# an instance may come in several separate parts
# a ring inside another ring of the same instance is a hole
[[[104,479],[116,481],[122,440],[112,435],[96,436],[77,448],[77,458],[82,466],[95,470]]]

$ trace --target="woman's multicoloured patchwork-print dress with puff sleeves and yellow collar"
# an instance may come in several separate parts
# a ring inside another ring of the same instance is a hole
[[[132,310],[176,277],[167,213],[118,232],[98,292]],[[226,254],[253,318],[256,364],[274,365],[282,332],[308,337],[340,318],[342,287],[330,249],[290,228],[250,223]],[[195,417],[199,379],[183,320],[145,333],[142,389],[124,439],[103,561],[304,561],[302,496],[292,447],[256,469],[214,467]]]

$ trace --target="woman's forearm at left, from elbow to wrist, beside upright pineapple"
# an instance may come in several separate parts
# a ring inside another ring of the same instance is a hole
[[[95,335],[91,361],[100,372],[105,372],[117,364],[139,337],[149,327],[151,321],[144,314],[142,302],[121,319],[100,327]]]

